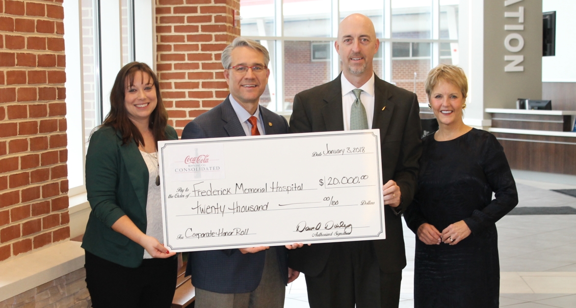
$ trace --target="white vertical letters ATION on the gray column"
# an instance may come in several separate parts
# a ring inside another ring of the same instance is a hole
[[[514,3],[521,2],[523,0],[506,0],[504,1],[504,6],[513,5]],[[518,23],[524,23],[524,6],[518,7],[518,12],[504,12],[505,18],[518,18]],[[504,25],[505,31],[524,31],[524,25]],[[518,44],[513,46],[510,41],[517,40]],[[520,52],[524,48],[524,37],[520,33],[510,33],[504,39],[504,47],[510,52]],[[505,72],[515,72],[524,71],[524,66],[519,66],[518,64],[524,61],[524,55],[506,55],[504,56],[505,61],[512,61],[504,67]]]

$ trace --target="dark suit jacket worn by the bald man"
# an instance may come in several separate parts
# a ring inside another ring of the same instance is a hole
[[[291,133],[342,131],[342,83],[340,77],[324,85],[298,93],[294,97]],[[380,269],[397,272],[406,267],[401,213],[414,197],[418,161],[422,154],[420,117],[416,94],[374,78],[374,117],[372,128],[380,129],[382,181],[396,181],[403,203],[396,208],[384,206],[386,239],[373,241]],[[384,108],[385,107],[385,108]],[[289,252],[289,267],[309,276],[324,269],[334,244],[313,244]]]

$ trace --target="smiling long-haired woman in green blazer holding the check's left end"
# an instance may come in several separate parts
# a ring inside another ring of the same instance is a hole
[[[90,137],[86,191],[92,212],[82,248],[94,308],[170,307],[177,260],[162,245],[157,142],[175,140],[156,74],[126,64],[111,109]]]

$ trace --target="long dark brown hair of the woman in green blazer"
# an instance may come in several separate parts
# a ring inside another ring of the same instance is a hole
[[[134,85],[134,76],[139,71],[148,74],[153,80],[154,88],[156,88],[156,98],[158,100],[156,108],[154,108],[154,111],[150,114],[148,127],[152,131],[152,135],[154,135],[155,143],[160,140],[166,140],[165,130],[166,124],[168,123],[168,112],[166,112],[162,97],[160,96],[158,77],[156,77],[156,74],[154,74],[146,63],[130,62],[122,67],[118,75],[116,75],[116,80],[110,93],[110,112],[106,116],[106,119],[104,119],[104,123],[100,126],[111,126],[116,131],[122,133],[123,145],[126,145],[131,139],[134,139],[134,142],[144,146],[144,138],[142,138],[142,134],[140,134],[140,131],[134,123],[128,119],[128,113],[124,106],[124,91],[128,86]]]

